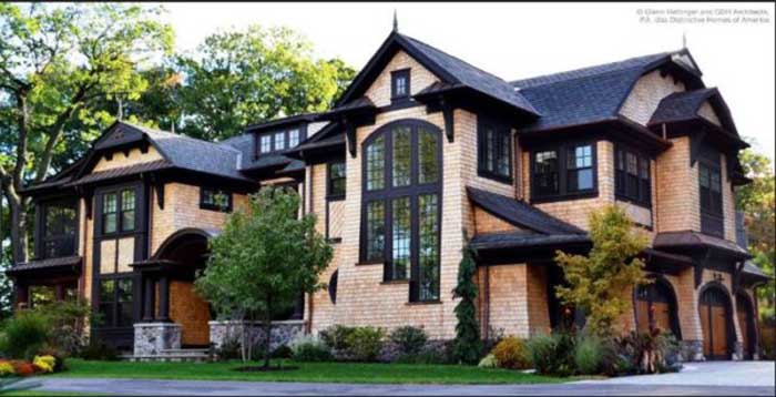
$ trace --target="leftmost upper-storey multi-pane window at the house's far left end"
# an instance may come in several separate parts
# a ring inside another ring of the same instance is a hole
[[[40,246],[44,258],[75,253],[75,203],[55,202],[42,204],[42,235]]]

